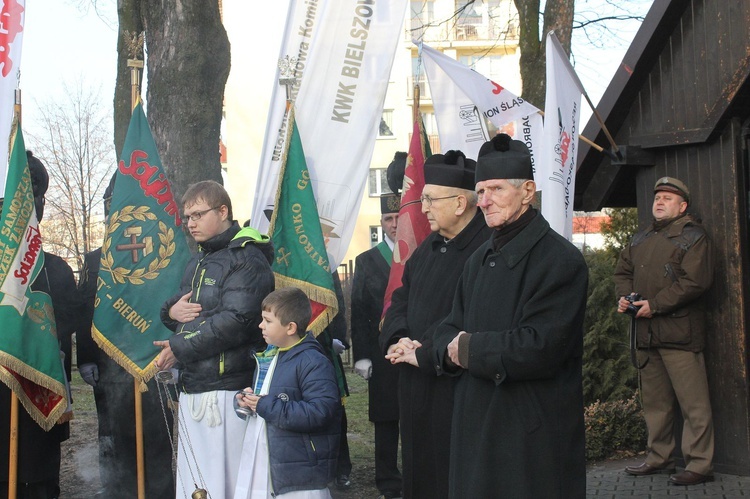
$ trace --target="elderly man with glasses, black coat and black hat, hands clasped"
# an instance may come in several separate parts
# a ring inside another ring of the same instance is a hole
[[[380,335],[386,358],[403,363],[398,392],[406,499],[448,497],[455,378],[437,375],[432,335],[451,310],[466,260],[492,232],[477,209],[475,167],[460,151],[425,161],[422,212],[433,232],[406,263]]]

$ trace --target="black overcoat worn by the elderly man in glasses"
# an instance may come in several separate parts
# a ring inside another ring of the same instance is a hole
[[[419,368],[399,364],[399,412],[403,496],[448,496],[448,463],[456,378],[438,376],[433,335],[448,315],[466,260],[492,230],[476,216],[449,242],[432,233],[406,262],[402,287],[393,293],[380,335],[382,353],[408,337],[419,340]]]

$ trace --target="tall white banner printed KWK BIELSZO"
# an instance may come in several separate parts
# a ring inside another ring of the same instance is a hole
[[[367,182],[407,0],[293,0],[280,59],[292,58],[297,126],[331,266],[344,258]],[[277,73],[277,82],[280,73]],[[266,232],[289,123],[272,97],[251,223]]]

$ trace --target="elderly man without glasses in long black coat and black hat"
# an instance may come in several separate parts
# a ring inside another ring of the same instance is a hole
[[[485,143],[476,182],[495,231],[466,263],[434,340],[436,365],[458,376],[450,497],[583,498],[586,263],[531,207],[523,142]]]

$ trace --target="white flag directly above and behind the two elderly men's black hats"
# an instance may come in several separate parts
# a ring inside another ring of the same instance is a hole
[[[420,49],[442,149],[460,149],[468,158],[476,159],[482,144],[492,138],[482,118],[498,128],[513,122],[509,135],[526,143],[536,169],[535,152],[542,141],[543,127],[539,109],[442,52],[424,44]]]

